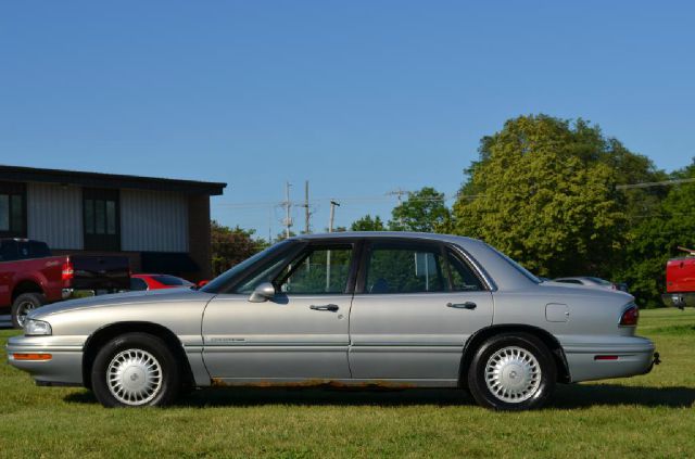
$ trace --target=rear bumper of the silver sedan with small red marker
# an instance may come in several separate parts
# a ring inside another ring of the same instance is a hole
[[[645,374],[659,364],[652,341],[632,337],[630,343],[564,346],[571,382]]]

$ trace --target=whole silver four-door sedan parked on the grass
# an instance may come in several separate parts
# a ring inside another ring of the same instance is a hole
[[[466,387],[520,410],[557,382],[646,373],[623,292],[540,282],[473,239],[301,235],[200,290],[132,292],[30,313],[9,361],[104,406],[165,405],[198,386]]]

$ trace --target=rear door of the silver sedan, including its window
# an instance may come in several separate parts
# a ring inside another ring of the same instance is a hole
[[[354,379],[457,383],[493,302],[467,260],[435,242],[372,242],[350,315]]]

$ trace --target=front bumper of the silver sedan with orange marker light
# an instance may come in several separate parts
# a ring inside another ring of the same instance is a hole
[[[38,384],[83,385],[83,345],[74,341],[13,336],[7,345],[8,364],[28,372]],[[35,355],[40,359],[33,358]]]

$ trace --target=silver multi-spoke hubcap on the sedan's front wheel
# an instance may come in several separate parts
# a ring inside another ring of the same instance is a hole
[[[118,401],[132,406],[144,405],[162,388],[162,367],[147,350],[123,350],[109,364],[106,382]]]

